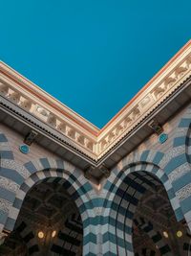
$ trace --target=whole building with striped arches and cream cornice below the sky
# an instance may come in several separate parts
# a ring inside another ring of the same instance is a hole
[[[0,255],[190,255],[191,41],[102,129],[0,63]]]

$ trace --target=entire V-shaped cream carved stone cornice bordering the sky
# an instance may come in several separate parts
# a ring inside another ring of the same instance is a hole
[[[154,109],[183,86],[191,77],[191,41],[172,58],[138,94],[102,129],[62,105],[37,85],[4,62],[0,62],[0,94],[40,122],[67,138],[77,151],[96,161],[107,154]]]

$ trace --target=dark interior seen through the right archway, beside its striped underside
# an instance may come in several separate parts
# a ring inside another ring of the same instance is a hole
[[[164,186],[146,172],[131,174],[145,188],[133,220],[136,256],[191,255],[191,235],[184,220],[177,221]]]

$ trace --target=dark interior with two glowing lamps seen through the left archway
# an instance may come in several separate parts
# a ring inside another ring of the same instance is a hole
[[[62,183],[48,178],[32,187],[0,255],[82,255],[82,221]]]

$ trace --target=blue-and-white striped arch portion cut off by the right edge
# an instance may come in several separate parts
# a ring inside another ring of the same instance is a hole
[[[176,128],[173,150],[176,152],[166,172],[169,174],[185,220],[191,230],[191,107]]]

